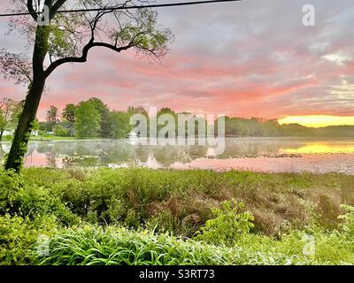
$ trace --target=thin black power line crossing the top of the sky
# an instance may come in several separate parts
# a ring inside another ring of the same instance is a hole
[[[120,7],[104,7],[104,8],[92,8],[92,9],[77,9],[77,10],[59,10],[56,13],[70,13],[70,12],[83,12],[83,11],[119,11],[119,10],[133,10],[133,9],[145,9],[145,8],[162,8],[162,7],[176,7],[176,6],[190,6],[197,4],[216,4],[223,2],[241,2],[243,0],[208,0],[208,1],[193,1],[193,2],[180,2],[180,3],[168,3],[168,4],[148,4],[148,5],[131,5]],[[12,16],[27,16],[41,14],[41,11],[34,12],[19,12],[19,13],[5,13],[0,14],[0,17],[12,17]]]

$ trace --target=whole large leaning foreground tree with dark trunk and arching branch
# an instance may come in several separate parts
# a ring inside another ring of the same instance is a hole
[[[115,6],[107,6],[102,0],[43,1],[49,10],[47,15],[35,13],[42,9],[40,0],[13,0],[14,11],[23,12],[23,9],[27,8],[31,13],[30,16],[13,18],[11,25],[13,29],[19,29],[20,34],[27,36],[29,45],[33,46],[32,58],[0,50],[0,67],[5,78],[12,78],[17,83],[28,83],[26,102],[5,169],[19,171],[46,81],[59,66],[84,63],[88,59],[89,50],[98,47],[118,53],[135,49],[144,55],[159,59],[165,55],[167,43],[171,39],[168,29],[158,29],[156,11],[113,9],[137,4],[134,0],[127,0]],[[100,10],[58,12],[61,9],[94,7]],[[45,16],[48,22],[42,25]],[[109,16],[110,19],[107,18]],[[46,62],[50,64],[46,66]]]

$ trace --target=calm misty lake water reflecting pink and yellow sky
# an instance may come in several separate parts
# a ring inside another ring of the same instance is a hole
[[[10,150],[0,143],[0,158]],[[141,146],[127,140],[30,142],[28,166],[343,172],[354,174],[354,140],[230,138],[219,157],[207,146]]]

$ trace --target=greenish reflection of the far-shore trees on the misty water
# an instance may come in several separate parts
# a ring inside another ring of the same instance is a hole
[[[272,138],[227,139],[225,152],[218,158],[276,155],[282,149],[300,148],[305,142],[306,140]],[[208,148],[208,145],[133,145],[125,140],[38,141],[30,142],[28,154],[46,154],[47,164],[50,167],[58,166],[58,157],[63,158],[65,166],[107,166],[108,164],[146,164],[151,156],[156,158],[158,164],[168,166],[176,162],[189,163],[196,158],[205,157]],[[2,151],[0,149],[0,157],[4,157],[6,150],[4,144],[4,149]]]

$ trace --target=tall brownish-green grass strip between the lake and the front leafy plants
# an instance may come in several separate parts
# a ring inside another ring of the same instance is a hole
[[[259,231],[272,236],[316,221],[331,228],[342,213],[339,205],[354,204],[354,176],[341,174],[27,169],[24,178],[60,195],[85,220],[132,226],[157,220],[158,228],[177,234],[186,221],[197,228],[213,207],[233,198],[253,213]],[[165,226],[156,219],[164,216]]]

